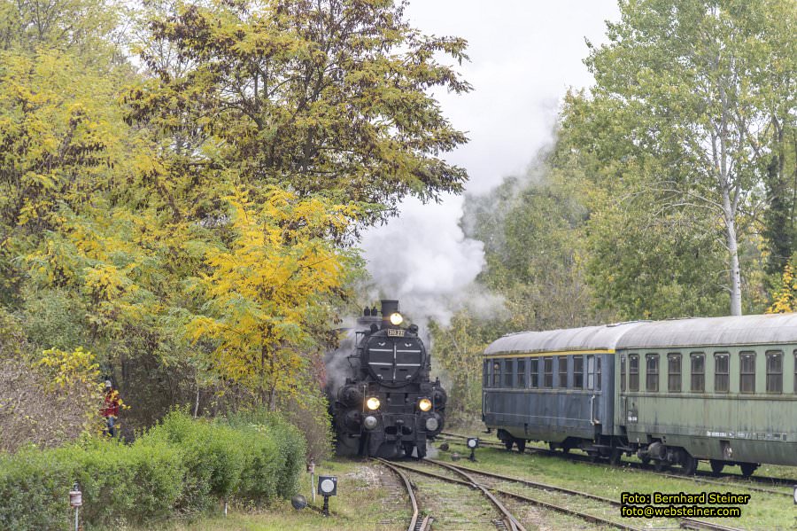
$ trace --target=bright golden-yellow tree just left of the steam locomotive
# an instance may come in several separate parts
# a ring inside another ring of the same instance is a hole
[[[319,308],[343,289],[354,258],[330,234],[343,232],[355,212],[277,188],[252,195],[228,197],[231,237],[206,250],[210,271],[194,286],[205,299],[203,315],[188,331],[213,345],[221,378],[274,409],[278,396],[297,392],[308,353],[318,350],[310,331]]]

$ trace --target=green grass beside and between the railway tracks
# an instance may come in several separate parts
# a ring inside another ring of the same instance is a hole
[[[450,461],[453,451],[462,457],[468,456],[468,450],[460,444],[451,444],[449,452],[439,452],[437,458]],[[687,479],[669,479],[656,476],[651,472],[637,471],[629,468],[617,468],[609,465],[595,466],[585,463],[573,463],[561,457],[542,455],[518,455],[502,449],[481,448],[476,450],[477,463],[467,460],[461,465],[471,468],[497,472],[513,477],[538,480],[561,487],[573,488],[599,496],[620,499],[623,491],[650,494],[654,491],[666,493],[700,493],[702,491],[750,494],[750,503],[741,507],[740,519],[716,519],[715,521],[729,527],[744,529],[797,529],[797,510],[793,501],[785,496],[768,495],[750,491],[743,484],[728,486],[695,483]],[[410,463],[410,465],[414,465]],[[707,466],[707,465],[705,465]],[[708,466],[707,466],[708,469]],[[128,531],[163,530],[163,531],[293,531],[304,529],[323,529],[325,531],[388,531],[406,529],[409,518],[409,504],[406,495],[393,472],[381,465],[365,464],[348,460],[332,460],[316,468],[316,472],[326,475],[337,475],[338,496],[330,498],[330,509],[333,516],[323,518],[317,511],[305,509],[295,511],[290,501],[280,501],[267,508],[253,509],[232,506],[225,518],[221,507],[211,515],[203,515],[196,519],[168,521],[159,525],[146,527],[127,527]],[[436,471],[437,472],[437,471]],[[445,473],[445,472],[441,472]],[[797,470],[792,467],[764,467],[757,473],[762,475],[797,477]],[[301,494],[311,499],[310,479],[305,475],[301,486]],[[436,518],[436,531],[491,529],[490,520],[494,518],[494,510],[477,492],[411,474],[411,480],[418,488],[422,511],[429,512]],[[650,529],[676,529],[677,519],[622,519],[619,510],[600,506],[584,498],[555,495],[533,488],[522,488],[516,484],[500,485],[507,490],[543,499],[557,504],[565,504],[570,508],[589,511],[615,521],[624,521],[630,525]],[[778,488],[787,491],[785,488]],[[523,525],[534,529],[600,529],[585,522],[557,512],[538,509],[529,504],[503,500],[522,520]],[[321,507],[319,496],[315,505]]]

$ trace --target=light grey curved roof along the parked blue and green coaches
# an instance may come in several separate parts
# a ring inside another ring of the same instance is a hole
[[[493,341],[484,355],[797,342],[797,314],[693,317],[520,332]]]

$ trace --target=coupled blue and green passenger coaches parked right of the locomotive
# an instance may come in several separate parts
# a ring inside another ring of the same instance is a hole
[[[484,352],[483,420],[618,462],[797,465],[797,314],[510,334]]]

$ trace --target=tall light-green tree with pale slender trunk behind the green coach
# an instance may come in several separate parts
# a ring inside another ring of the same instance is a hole
[[[607,24],[609,43],[586,59],[594,103],[615,113],[603,139],[623,137],[659,161],[648,183],[669,207],[722,223],[731,314],[740,315],[739,218],[761,207],[772,124],[793,121],[797,53],[783,33],[794,26],[793,3],[641,0],[620,8],[621,21]]]

